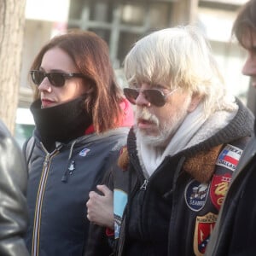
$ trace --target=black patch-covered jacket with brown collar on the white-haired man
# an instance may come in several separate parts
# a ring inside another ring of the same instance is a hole
[[[241,154],[253,133],[252,113],[238,105],[229,125],[191,148],[166,156],[148,180],[138,159],[135,134],[130,131],[127,151],[106,182],[114,193],[114,255],[205,252],[234,171],[230,171],[229,160],[222,160],[225,149],[231,145]],[[102,247],[105,231],[94,229],[85,255],[109,255],[108,243],[104,243],[108,249]]]

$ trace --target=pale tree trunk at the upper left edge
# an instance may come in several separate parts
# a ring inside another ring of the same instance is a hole
[[[26,0],[0,0],[0,119],[15,131]]]

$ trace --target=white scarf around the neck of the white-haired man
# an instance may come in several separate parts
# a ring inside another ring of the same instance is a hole
[[[195,137],[196,132],[201,129],[201,126],[206,121],[207,117],[204,115],[202,104],[191,113],[187,113],[186,109],[188,108],[183,108],[183,110],[178,109],[177,113],[172,115],[172,122],[169,121],[166,123],[164,125],[165,129],[162,128],[159,135],[150,136],[151,139],[154,139],[154,142],[149,140],[149,136],[143,134],[141,131],[139,131],[139,134],[137,133],[139,135],[137,137],[137,153],[145,177],[150,176],[156,170],[166,155],[177,154],[177,152],[186,148],[190,144],[190,140]],[[172,128],[169,128],[169,130],[166,128],[170,127],[168,124],[172,125]],[[160,134],[163,135],[164,132],[162,131],[164,130],[169,131],[169,133],[166,133],[166,137],[169,136],[166,140],[163,140],[163,137],[160,138]],[[159,138],[162,140],[161,142],[157,140]],[[197,137],[194,143],[199,142],[200,138]]]

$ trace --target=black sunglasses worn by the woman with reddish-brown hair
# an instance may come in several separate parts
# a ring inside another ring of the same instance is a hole
[[[85,78],[82,73],[44,73],[40,70],[31,70],[30,74],[34,84],[40,85],[44,78],[47,77],[49,83],[55,87],[62,87],[65,84],[66,79]]]

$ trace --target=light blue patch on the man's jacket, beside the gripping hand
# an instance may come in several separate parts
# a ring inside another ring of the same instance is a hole
[[[127,194],[123,190],[113,190],[114,238],[119,238],[121,220],[127,203]]]

